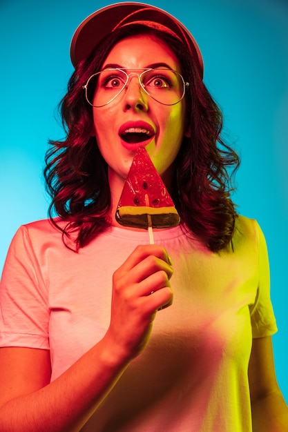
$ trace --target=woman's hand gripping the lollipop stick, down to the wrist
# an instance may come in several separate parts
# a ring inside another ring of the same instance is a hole
[[[117,357],[131,360],[146,346],[157,310],[172,304],[172,274],[169,255],[155,244],[137,246],[115,271],[105,339]]]

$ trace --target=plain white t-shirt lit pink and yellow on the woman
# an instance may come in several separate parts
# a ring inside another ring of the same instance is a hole
[[[236,224],[233,251],[220,253],[180,226],[155,231],[173,262],[173,305],[82,431],[251,431],[251,340],[277,328],[265,238],[253,219]],[[50,349],[55,380],[102,339],[113,272],[148,242],[111,227],[74,253],[48,220],[21,226],[1,281],[0,346]]]

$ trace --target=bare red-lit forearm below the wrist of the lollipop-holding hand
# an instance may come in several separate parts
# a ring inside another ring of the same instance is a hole
[[[54,382],[3,405],[0,431],[79,431],[127,364],[102,340]]]

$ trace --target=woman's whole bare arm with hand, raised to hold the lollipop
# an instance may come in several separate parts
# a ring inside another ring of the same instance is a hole
[[[50,384],[47,352],[46,357],[26,352],[19,371],[19,351],[2,351],[0,431],[78,432],[144,350],[155,311],[172,302],[172,274],[162,246],[137,246],[113,275],[111,322],[104,338]]]

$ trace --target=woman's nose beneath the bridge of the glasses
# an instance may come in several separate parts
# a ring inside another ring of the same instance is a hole
[[[132,75],[132,74],[131,74]],[[125,109],[148,110],[148,101],[146,92],[140,86],[137,75],[129,76],[128,82],[124,88],[124,105]]]

